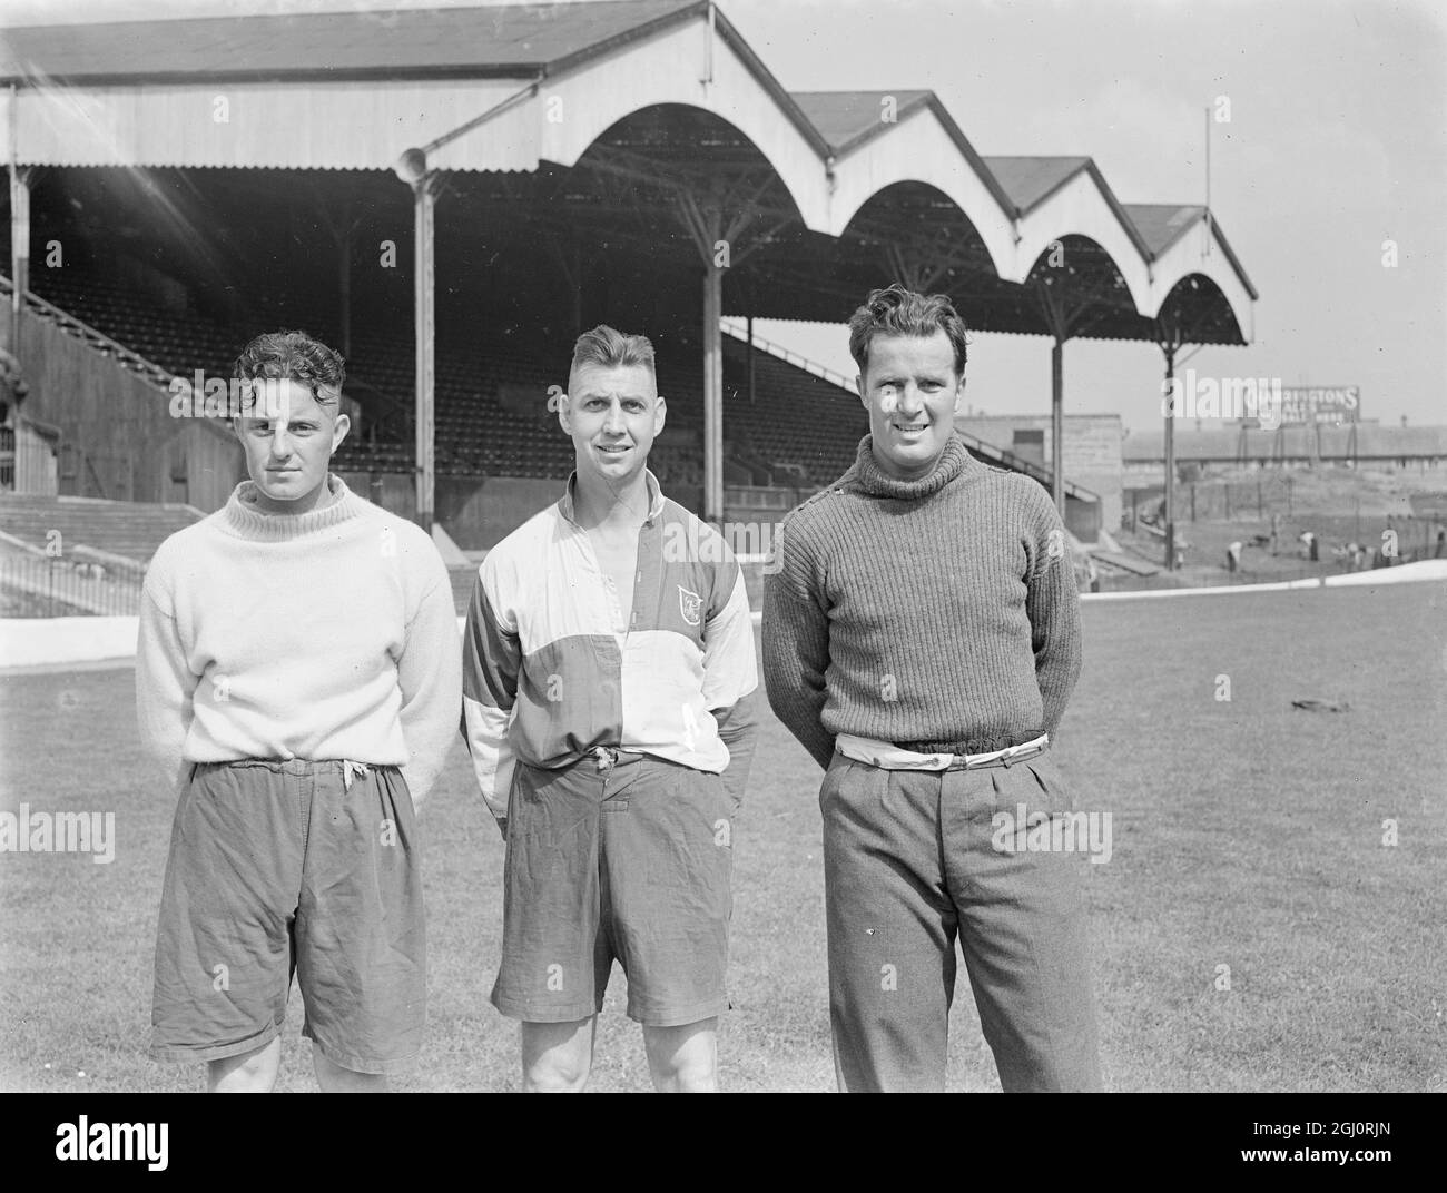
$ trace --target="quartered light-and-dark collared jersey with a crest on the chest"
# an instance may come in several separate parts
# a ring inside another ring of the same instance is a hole
[[[478,568],[463,732],[499,820],[515,759],[561,768],[599,746],[724,774],[735,807],[744,797],[758,687],[744,574],[718,531],[664,497],[651,471],[645,483],[631,625],[574,521],[576,473]]]

